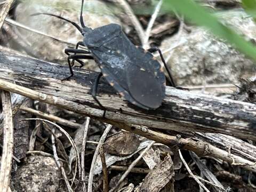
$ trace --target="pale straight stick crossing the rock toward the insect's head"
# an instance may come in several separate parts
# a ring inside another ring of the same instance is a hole
[[[19,27],[19,28],[22,28],[22,29],[25,29],[25,30],[28,30],[30,32],[33,32],[33,33],[36,33],[36,34],[39,34],[39,35],[43,35],[47,38],[50,38],[50,39],[53,39],[54,41],[58,41],[60,43],[64,43],[64,44],[67,44],[67,45],[71,45],[71,46],[76,46],[76,44],[74,43],[70,43],[70,42],[67,42],[67,41],[64,41],[64,40],[61,40],[61,39],[58,39],[58,38],[55,38],[51,35],[47,35],[45,33],[42,33],[41,31],[38,31],[36,29],[31,29],[30,27],[27,27],[25,25],[22,25],[21,23],[17,22],[17,21],[14,21],[10,18],[6,18],[5,19],[5,22],[9,23],[10,25],[13,25],[13,26],[16,26],[16,27]]]

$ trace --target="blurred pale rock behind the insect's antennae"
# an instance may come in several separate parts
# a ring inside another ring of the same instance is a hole
[[[48,15],[37,15],[35,17],[30,15],[37,12],[53,13],[79,23],[80,11],[80,0],[26,0],[18,5],[15,15],[17,21],[23,25],[76,44],[78,41],[82,41],[83,37],[70,23]],[[106,4],[98,0],[85,1],[83,18],[85,25],[91,28],[109,23],[119,23],[119,20],[111,13]],[[30,49],[37,58],[67,65],[67,55],[64,53],[67,44],[30,33],[27,30],[20,29],[20,32],[30,43]],[[95,69],[97,65],[94,61],[90,61],[90,65],[85,66],[85,68]]]

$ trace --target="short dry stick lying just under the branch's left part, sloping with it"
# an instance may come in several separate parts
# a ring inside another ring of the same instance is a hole
[[[38,111],[38,110],[35,110],[35,109],[32,109],[32,108],[21,106],[20,110],[25,111],[25,112],[30,113],[30,114],[33,114],[33,115],[36,115],[38,117],[43,117],[45,119],[48,119],[49,121],[56,122],[56,123],[64,125],[64,126],[68,126],[72,129],[80,129],[82,127],[81,124],[70,122],[66,119],[57,117],[55,115],[46,114],[46,113],[43,113],[42,111]]]

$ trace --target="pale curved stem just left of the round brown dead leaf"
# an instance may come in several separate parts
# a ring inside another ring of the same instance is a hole
[[[103,132],[99,144],[95,149],[93,158],[92,158],[92,164],[91,164],[91,169],[90,169],[90,173],[89,173],[89,179],[88,179],[88,192],[92,192],[92,182],[93,182],[93,172],[94,172],[94,167],[95,167],[95,163],[96,163],[96,159],[99,155],[99,149],[100,147],[103,145],[103,142],[105,141],[105,139],[107,138],[108,132],[110,131],[110,129],[112,128],[112,125],[108,125],[107,128],[105,129],[105,131]]]

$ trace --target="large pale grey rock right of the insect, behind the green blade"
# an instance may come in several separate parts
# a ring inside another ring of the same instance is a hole
[[[220,20],[233,27],[247,39],[256,38],[256,25],[243,12],[226,12]],[[179,35],[166,38],[161,50],[179,45],[171,54],[168,66],[172,69],[178,85],[200,85],[211,83],[234,83],[239,77],[252,76],[254,63],[236,51],[223,39],[218,39],[202,27],[191,27]],[[165,54],[168,57],[170,52]]]

